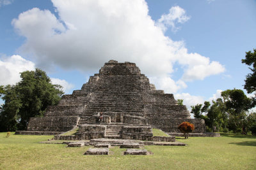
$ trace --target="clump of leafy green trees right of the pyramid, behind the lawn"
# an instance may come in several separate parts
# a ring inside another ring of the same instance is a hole
[[[221,98],[212,101],[212,105],[205,101],[204,106],[191,106],[191,113],[195,118],[205,120],[207,131],[227,132],[229,129],[246,134],[247,129],[252,127],[248,124],[246,113],[253,106],[253,100],[247,97],[243,90],[233,89],[221,92]]]

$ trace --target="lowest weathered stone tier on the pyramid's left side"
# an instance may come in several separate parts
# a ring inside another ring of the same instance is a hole
[[[73,129],[78,121],[79,117],[32,117],[27,130],[66,132]]]

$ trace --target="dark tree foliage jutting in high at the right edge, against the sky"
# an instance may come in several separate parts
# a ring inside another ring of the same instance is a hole
[[[242,63],[252,66],[249,67],[252,73],[247,74],[244,80],[244,89],[246,89],[248,93],[256,92],[256,49],[253,49],[253,53],[251,51],[246,52],[245,59],[242,59]]]

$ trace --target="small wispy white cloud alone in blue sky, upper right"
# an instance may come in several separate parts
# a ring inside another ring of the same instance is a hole
[[[168,27],[171,27],[173,32],[176,32],[180,29],[177,27],[177,24],[183,24],[187,22],[191,17],[186,15],[186,11],[179,6],[173,6],[170,8],[168,14],[164,14],[157,20],[157,25],[165,32]]]

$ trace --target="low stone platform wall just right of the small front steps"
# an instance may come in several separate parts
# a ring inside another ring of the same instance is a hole
[[[143,141],[152,141],[153,132],[150,126],[124,126],[122,139],[136,139]]]

